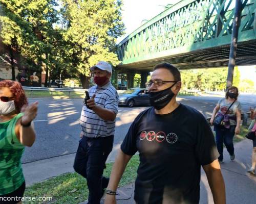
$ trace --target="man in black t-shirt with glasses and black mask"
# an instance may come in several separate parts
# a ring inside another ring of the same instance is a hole
[[[137,151],[136,203],[199,203],[201,166],[215,203],[225,203],[225,184],[210,126],[197,110],[176,101],[181,88],[179,70],[168,63],[157,65],[147,87],[153,107],[136,117],[121,144],[105,204],[116,203],[122,173]]]

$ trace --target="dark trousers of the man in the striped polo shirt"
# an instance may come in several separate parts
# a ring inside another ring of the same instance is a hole
[[[109,178],[102,176],[106,159],[113,148],[114,136],[82,137],[76,152],[74,170],[87,179],[89,189],[88,204],[100,204],[103,189]]]

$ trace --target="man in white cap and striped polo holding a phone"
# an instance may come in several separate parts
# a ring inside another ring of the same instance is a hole
[[[82,107],[81,140],[74,169],[87,179],[88,204],[99,204],[109,178],[102,176],[105,162],[113,147],[118,94],[110,82],[112,67],[100,61],[91,67],[95,86],[89,89],[90,99]]]

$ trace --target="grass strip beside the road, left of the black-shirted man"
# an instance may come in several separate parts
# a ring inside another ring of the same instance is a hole
[[[113,163],[106,164],[104,175],[109,176]],[[137,176],[139,156],[135,155],[127,165],[119,186],[132,183]],[[86,179],[77,173],[65,173],[47,181],[37,183],[27,188],[24,196],[52,197],[48,203],[73,204],[87,199],[88,189]],[[39,201],[25,201],[24,203],[44,203]]]

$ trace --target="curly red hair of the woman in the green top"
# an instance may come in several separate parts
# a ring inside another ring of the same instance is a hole
[[[14,104],[16,110],[20,112],[22,107],[28,104],[28,99],[24,89],[22,88],[22,85],[16,81],[4,80],[0,82],[0,88],[3,87],[7,87],[10,89],[14,97]]]

